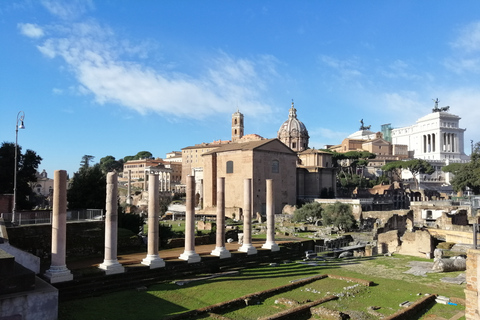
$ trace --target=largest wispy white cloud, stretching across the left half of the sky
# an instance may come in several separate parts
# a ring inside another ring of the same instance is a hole
[[[193,78],[125,60],[124,56],[143,54],[145,48],[118,41],[112,30],[94,22],[74,24],[65,31],[45,40],[38,49],[49,58],[63,58],[76,76],[80,92],[93,94],[100,104],[119,104],[141,114],[195,118],[232,112],[235,106],[246,114],[270,111],[261,101],[267,88],[264,78],[275,76],[272,57],[254,61],[219,53],[207,62],[201,76]]]

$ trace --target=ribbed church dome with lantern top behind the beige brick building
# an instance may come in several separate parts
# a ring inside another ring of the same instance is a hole
[[[297,109],[293,102],[289,110],[288,119],[278,130],[277,137],[293,151],[303,151],[308,148],[308,131],[302,121],[297,119]]]

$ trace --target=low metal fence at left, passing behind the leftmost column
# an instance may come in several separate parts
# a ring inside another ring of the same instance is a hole
[[[12,222],[12,213],[2,213],[3,221]],[[104,220],[103,209],[83,209],[67,211],[67,222]],[[51,224],[52,211],[22,211],[15,213],[15,225]]]

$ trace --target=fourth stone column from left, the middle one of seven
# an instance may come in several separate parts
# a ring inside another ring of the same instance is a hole
[[[195,252],[195,177],[187,176],[187,203],[185,212],[185,251],[178,257],[188,263],[200,262]]]

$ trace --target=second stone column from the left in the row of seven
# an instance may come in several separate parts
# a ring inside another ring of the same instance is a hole
[[[118,235],[118,177],[116,172],[107,174],[107,209],[105,217],[105,259],[98,267],[105,270],[105,274],[125,272],[117,260],[117,235]]]

